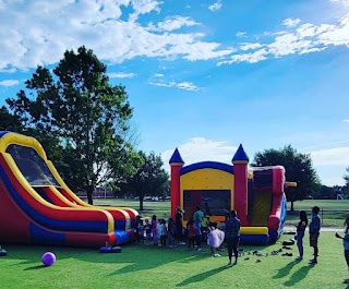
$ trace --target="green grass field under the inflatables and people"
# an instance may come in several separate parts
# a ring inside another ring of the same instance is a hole
[[[341,201],[342,202],[342,201]],[[119,205],[137,208],[139,203],[121,200],[98,200],[96,205]],[[302,201],[296,209],[317,204],[330,209],[336,202]],[[338,203],[339,204],[339,203]],[[168,217],[169,202],[146,202],[144,217],[153,214]],[[342,220],[340,221],[342,225]],[[258,250],[266,254],[280,249],[281,242],[292,238],[281,236],[277,243],[268,246],[242,246],[245,252]],[[268,255],[256,257],[244,255],[237,266],[226,267],[227,252],[221,257],[212,257],[205,251],[188,251],[185,245],[163,249],[153,245],[128,244],[122,253],[101,254],[95,249],[25,246],[2,244],[8,256],[0,257],[0,288],[349,288],[341,284],[349,278],[344,258],[341,240],[334,232],[322,232],[320,237],[318,264],[309,265],[312,257],[309,237],[304,237],[304,260],[294,262],[292,256]],[[52,251],[57,262],[44,267],[40,258]],[[284,253],[282,252],[282,253]],[[245,261],[244,257],[250,260]],[[256,263],[261,258],[261,263]]]

